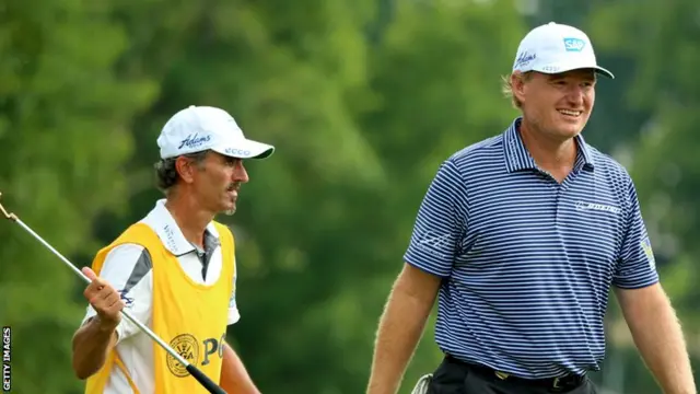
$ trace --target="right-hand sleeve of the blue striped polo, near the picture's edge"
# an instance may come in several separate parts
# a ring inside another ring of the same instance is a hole
[[[652,244],[642,219],[637,190],[628,179],[628,219],[612,285],[621,289],[638,289],[658,281]]]

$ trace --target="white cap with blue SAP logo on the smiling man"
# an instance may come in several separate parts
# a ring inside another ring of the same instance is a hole
[[[555,22],[533,28],[521,42],[513,71],[560,73],[576,69],[594,69],[615,78],[598,66],[588,36],[582,31]]]

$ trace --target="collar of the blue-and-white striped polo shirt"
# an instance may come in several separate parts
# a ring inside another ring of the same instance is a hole
[[[523,139],[521,138],[520,127],[522,117],[517,117],[511,126],[503,134],[503,152],[505,154],[505,165],[509,172],[516,172],[522,170],[537,170],[537,164],[533,157],[530,157]],[[586,144],[583,136],[578,135],[574,137],[576,142],[576,162],[574,169],[593,170],[593,157],[588,146]]]

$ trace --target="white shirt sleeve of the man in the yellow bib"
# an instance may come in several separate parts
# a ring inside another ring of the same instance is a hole
[[[151,256],[141,245],[122,244],[116,246],[105,257],[98,276],[105,279],[121,296],[131,316],[144,325],[151,321],[152,305],[152,263]],[[82,324],[97,313],[88,305]],[[140,328],[126,317],[117,326],[117,344],[137,334]]]

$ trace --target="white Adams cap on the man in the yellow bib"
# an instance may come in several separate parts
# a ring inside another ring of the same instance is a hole
[[[190,105],[171,117],[158,137],[161,159],[211,149],[238,159],[265,159],[275,147],[246,139],[228,112]]]

